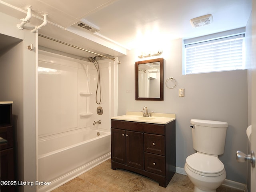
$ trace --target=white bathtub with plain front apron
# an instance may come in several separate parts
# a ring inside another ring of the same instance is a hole
[[[38,138],[38,186],[48,192],[110,158],[110,132],[82,128]]]

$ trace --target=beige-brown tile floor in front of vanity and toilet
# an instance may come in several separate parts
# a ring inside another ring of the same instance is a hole
[[[193,192],[194,185],[182,174],[174,174],[166,188],[158,182],[125,170],[112,170],[111,160],[81,174],[52,192]],[[242,192],[220,186],[216,192]]]

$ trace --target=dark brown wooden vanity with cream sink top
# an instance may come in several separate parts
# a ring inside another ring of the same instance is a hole
[[[127,112],[111,118],[112,169],[136,172],[166,187],[176,171],[175,114]]]

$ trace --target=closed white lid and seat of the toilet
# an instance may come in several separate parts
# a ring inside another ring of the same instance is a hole
[[[199,152],[188,156],[186,163],[193,170],[204,174],[217,174],[224,170],[224,164],[218,159],[218,156]]]

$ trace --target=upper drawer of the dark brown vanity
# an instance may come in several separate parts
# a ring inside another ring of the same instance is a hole
[[[165,155],[165,136],[144,133],[144,151]]]

